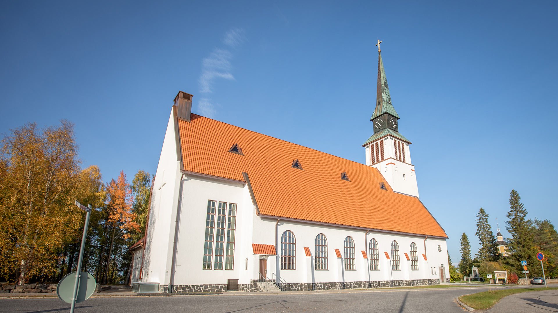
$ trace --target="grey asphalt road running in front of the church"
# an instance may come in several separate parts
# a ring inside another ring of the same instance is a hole
[[[206,295],[169,297],[91,298],[76,305],[82,312],[468,312],[453,299],[487,290],[397,290],[342,292],[331,294]],[[59,299],[3,299],[0,312],[69,312],[70,305]]]

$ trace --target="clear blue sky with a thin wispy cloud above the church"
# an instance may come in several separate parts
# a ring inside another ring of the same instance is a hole
[[[379,38],[421,200],[455,262],[462,232],[478,249],[480,207],[504,229],[512,188],[530,218],[558,221],[557,11],[554,1],[4,1],[0,135],[68,119],[83,167],[131,179],[155,173],[183,90],[194,113],[364,162]]]

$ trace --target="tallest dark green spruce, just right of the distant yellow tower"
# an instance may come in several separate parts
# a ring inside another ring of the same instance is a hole
[[[509,193],[509,221],[506,221],[506,229],[511,238],[507,238],[507,246],[510,255],[504,258],[504,263],[511,268],[521,272],[523,270],[521,261],[526,260],[527,265],[536,264],[536,249],[533,247],[535,229],[532,222],[527,221],[527,210],[521,203],[521,197],[516,190]]]

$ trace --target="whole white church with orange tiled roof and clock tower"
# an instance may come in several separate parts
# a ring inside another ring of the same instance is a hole
[[[419,199],[381,53],[363,164],[192,114],[192,97],[180,91],[172,106],[132,282],[162,292],[449,282],[448,236]]]

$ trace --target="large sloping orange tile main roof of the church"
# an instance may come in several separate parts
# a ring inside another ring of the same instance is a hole
[[[260,214],[448,237],[418,198],[380,189],[376,168],[196,114],[178,124],[183,169],[239,181],[248,173]],[[228,152],[234,144],[244,155]]]

